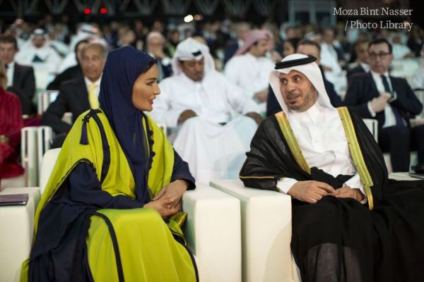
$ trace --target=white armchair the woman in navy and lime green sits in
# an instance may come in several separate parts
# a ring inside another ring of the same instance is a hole
[[[41,194],[59,152],[60,149],[50,149],[42,159]],[[23,188],[23,191],[25,189],[30,188]],[[19,207],[23,214],[20,216],[11,213],[9,207],[0,207],[0,243],[11,244],[0,249],[0,262],[8,260],[8,264],[0,263],[0,281],[18,281],[20,265],[29,255],[35,196],[30,199],[27,206]],[[188,213],[185,234],[196,257],[201,281],[241,282],[240,201],[207,185],[197,185],[196,190],[184,194],[182,207]],[[27,216],[25,220],[22,219],[24,215]],[[8,220],[3,222],[6,218]],[[11,228],[12,224],[16,228]],[[21,236],[23,232],[30,235]]]

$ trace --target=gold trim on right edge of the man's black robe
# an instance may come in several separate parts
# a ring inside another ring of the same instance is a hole
[[[368,207],[370,210],[372,210],[374,209],[374,202],[372,199],[371,187],[374,185],[374,183],[372,183],[370,172],[365,165],[364,157],[362,151],[360,150],[358,139],[356,138],[355,128],[353,128],[351,114],[349,114],[348,108],[346,108],[346,106],[337,108],[337,111],[338,115],[340,116],[341,123],[343,124],[346,138],[348,139],[348,145],[349,150],[351,151],[353,164],[355,164],[356,171],[359,173],[360,180],[362,181],[365,193],[367,194]]]

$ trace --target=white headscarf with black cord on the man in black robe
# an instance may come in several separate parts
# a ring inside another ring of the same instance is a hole
[[[275,70],[271,71],[271,74],[269,75],[269,83],[271,84],[272,90],[276,95],[281,109],[283,109],[285,113],[288,113],[289,111],[288,106],[284,102],[283,95],[281,94],[280,73],[288,74],[290,71],[298,71],[305,75],[318,92],[317,102],[324,108],[334,109],[331,105],[329,95],[326,93],[322,73],[315,61],[316,58],[314,56],[291,54],[285,56],[280,63],[276,63]]]

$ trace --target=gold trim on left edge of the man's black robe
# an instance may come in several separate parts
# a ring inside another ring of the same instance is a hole
[[[280,125],[281,133],[283,133],[285,141],[288,143],[288,147],[295,157],[295,161],[298,165],[307,173],[311,174],[311,168],[307,165],[305,157],[303,157],[302,151],[300,150],[298,140],[296,140],[295,134],[288,122],[287,116],[283,111],[278,112],[276,115],[278,125]]]

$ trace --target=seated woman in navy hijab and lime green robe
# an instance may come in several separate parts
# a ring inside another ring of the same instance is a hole
[[[143,111],[158,66],[122,47],[107,56],[100,109],[78,117],[35,213],[29,281],[196,281],[174,219],[194,178]]]

